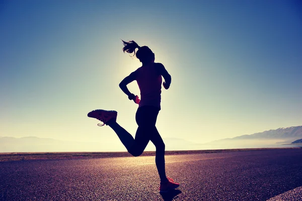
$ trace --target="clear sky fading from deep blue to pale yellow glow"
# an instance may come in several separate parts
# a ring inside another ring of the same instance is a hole
[[[121,39],[147,45],[172,76],[157,121],[164,141],[302,125],[299,1],[1,1],[0,27],[0,137],[125,151],[87,117],[116,110],[134,136],[137,105],[118,84],[141,63]]]

